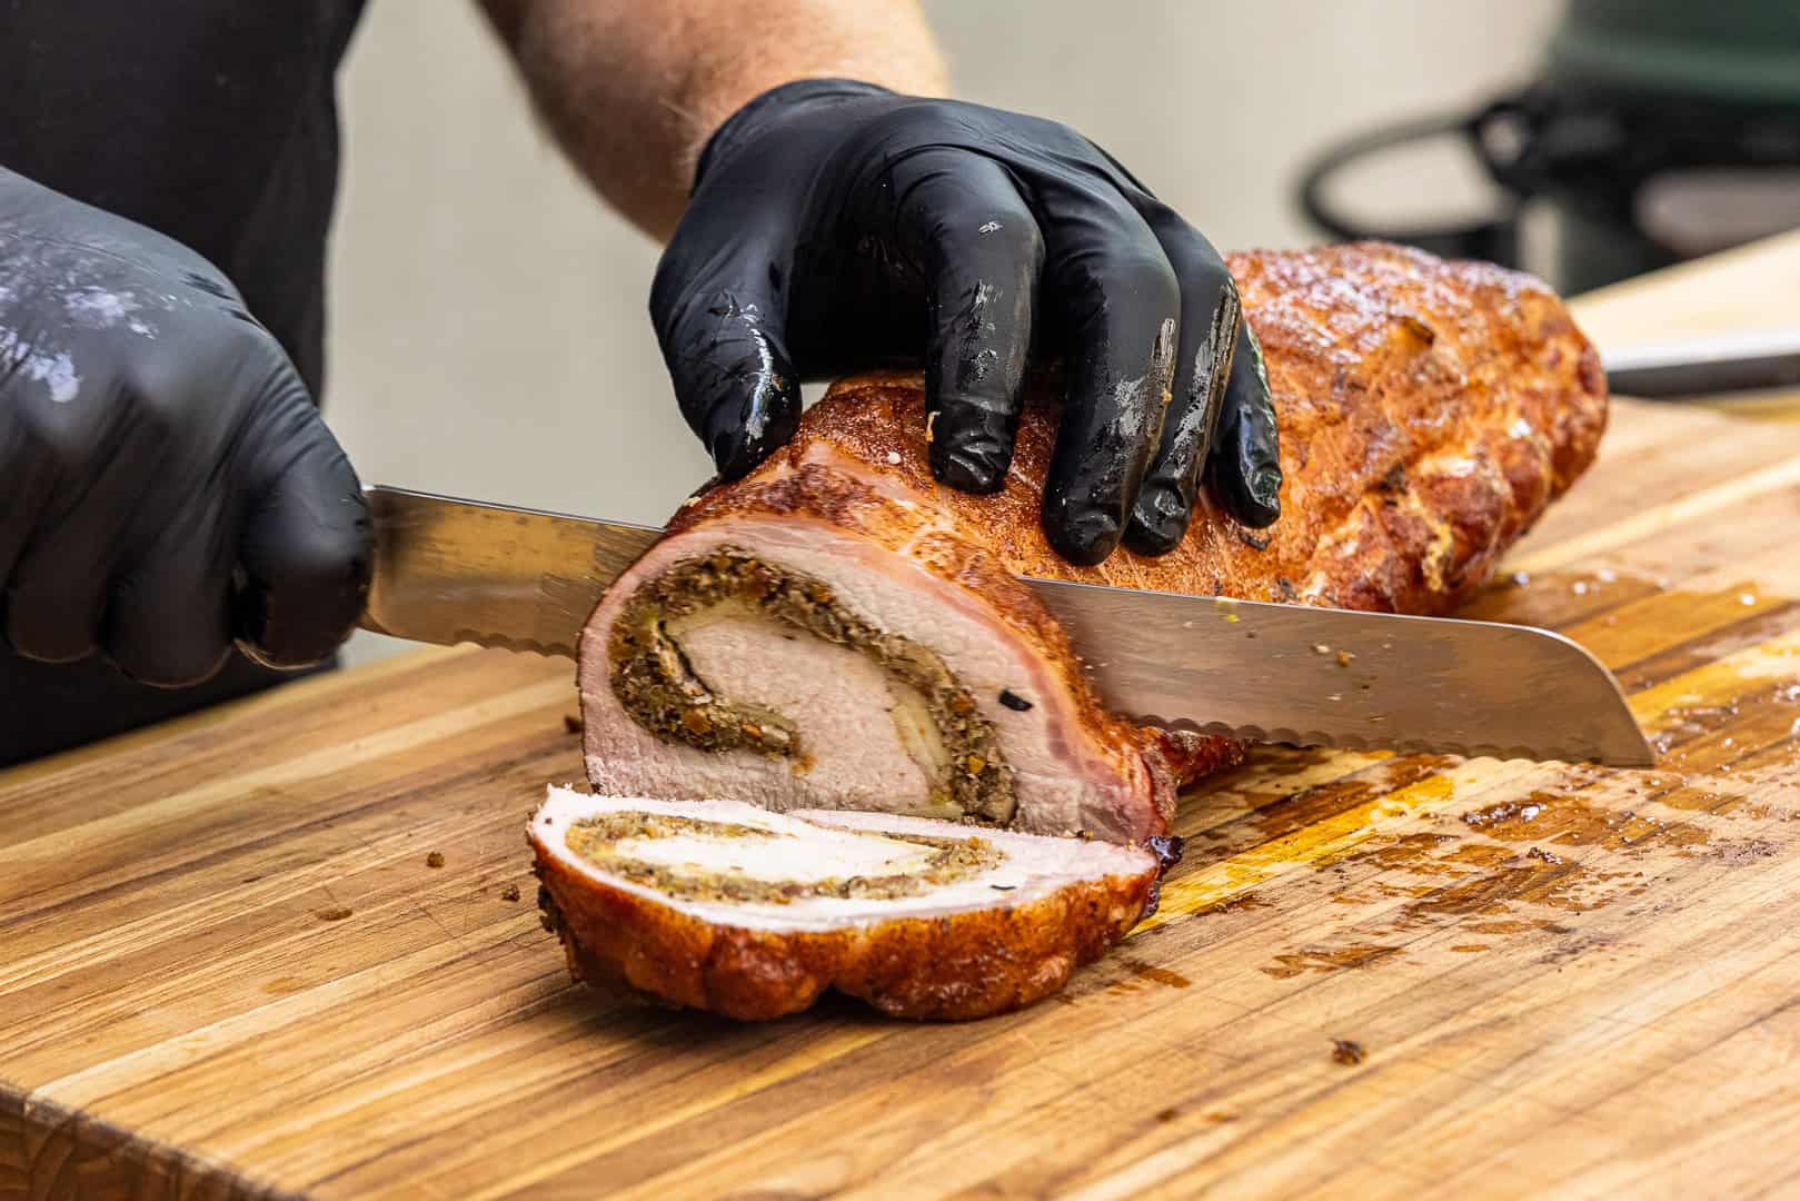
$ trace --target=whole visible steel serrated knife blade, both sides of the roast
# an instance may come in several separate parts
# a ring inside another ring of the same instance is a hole
[[[599,594],[662,531],[369,488],[362,625],[423,643],[576,654]],[[1532,627],[1026,580],[1102,700],[1251,742],[1649,767],[1618,681]]]

